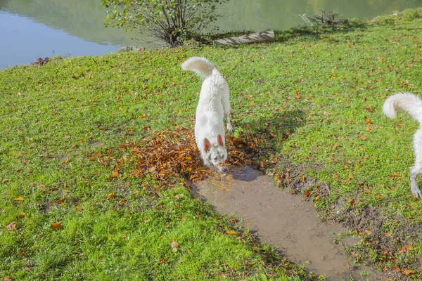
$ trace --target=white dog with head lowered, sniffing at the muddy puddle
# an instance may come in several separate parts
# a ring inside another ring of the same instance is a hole
[[[196,107],[195,140],[205,166],[213,164],[224,172],[227,170],[227,149],[224,138],[224,120],[232,133],[230,124],[229,86],[222,74],[206,58],[192,57],[181,64],[182,70],[192,70],[204,78]]]

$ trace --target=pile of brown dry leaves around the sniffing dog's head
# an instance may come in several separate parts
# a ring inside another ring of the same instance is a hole
[[[252,134],[243,134],[240,138],[227,135],[229,158],[226,164],[250,164],[251,157],[248,155],[257,155],[263,143],[263,140]],[[131,176],[150,174],[161,184],[179,177],[188,181],[200,181],[211,171],[203,166],[193,129],[182,126],[155,133],[150,138],[143,138],[139,143],[120,145],[120,151],[130,151],[136,159],[136,167],[131,171]],[[122,163],[122,159],[117,162]],[[117,176],[116,173],[115,175]]]

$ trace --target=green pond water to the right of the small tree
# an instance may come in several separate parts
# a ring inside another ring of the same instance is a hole
[[[303,25],[299,15],[314,15],[322,9],[343,18],[370,20],[377,15],[422,6],[422,0],[230,0],[220,30],[285,30]]]

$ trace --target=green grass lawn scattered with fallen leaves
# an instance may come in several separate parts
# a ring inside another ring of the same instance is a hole
[[[381,112],[392,93],[422,89],[421,13],[278,32],[271,44],[112,53],[0,71],[0,277],[305,278],[181,183],[129,177],[130,161],[112,178],[113,164],[87,157],[190,126],[200,81],[180,65],[200,55],[229,83],[238,132],[273,134],[261,160],[283,159],[271,167],[279,175],[298,168],[290,186],[305,192],[294,184],[304,176],[328,218],[363,233],[352,249],[358,260],[392,276],[395,268],[415,270],[409,276],[421,279],[422,204],[408,197],[418,124]],[[232,229],[239,234],[227,235]]]

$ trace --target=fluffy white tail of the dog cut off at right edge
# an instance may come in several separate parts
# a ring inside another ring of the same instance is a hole
[[[385,100],[383,112],[386,117],[397,117],[399,110],[409,113],[422,124],[422,100],[414,93],[395,93]]]

